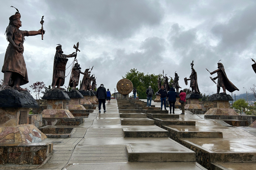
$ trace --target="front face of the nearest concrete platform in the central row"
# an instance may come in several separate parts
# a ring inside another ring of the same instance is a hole
[[[132,151],[126,145],[129,162],[194,162],[195,152],[191,151]]]

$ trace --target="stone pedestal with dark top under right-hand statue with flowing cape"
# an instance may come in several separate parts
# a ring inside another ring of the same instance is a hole
[[[239,115],[234,109],[230,108],[229,101],[233,101],[233,98],[228,94],[213,94],[209,97],[209,101],[213,102],[213,108],[209,109],[205,115]]]

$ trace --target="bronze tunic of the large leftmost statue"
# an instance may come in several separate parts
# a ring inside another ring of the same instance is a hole
[[[20,31],[19,29],[15,28],[12,25],[9,25],[6,29],[6,35],[12,36],[12,40],[14,43],[20,47],[23,47],[23,42],[25,40],[24,35],[28,36],[27,31]],[[15,72],[23,77],[21,79],[20,85],[24,85],[28,83],[28,73],[26,68],[26,63],[23,57],[23,51],[20,53],[18,52],[10,43],[6,49],[5,56],[4,56],[4,64],[2,67],[2,72]],[[12,77],[15,76],[14,74]],[[15,78],[12,78],[12,80]],[[10,81],[10,86],[14,85],[13,81]]]

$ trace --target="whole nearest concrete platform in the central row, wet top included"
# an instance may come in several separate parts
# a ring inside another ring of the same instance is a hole
[[[195,152],[181,147],[167,138],[161,143],[126,145],[128,161],[131,162],[194,162]]]

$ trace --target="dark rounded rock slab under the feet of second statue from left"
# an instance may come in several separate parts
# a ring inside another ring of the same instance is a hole
[[[46,100],[70,100],[68,94],[60,89],[52,89],[44,94],[42,99]]]

